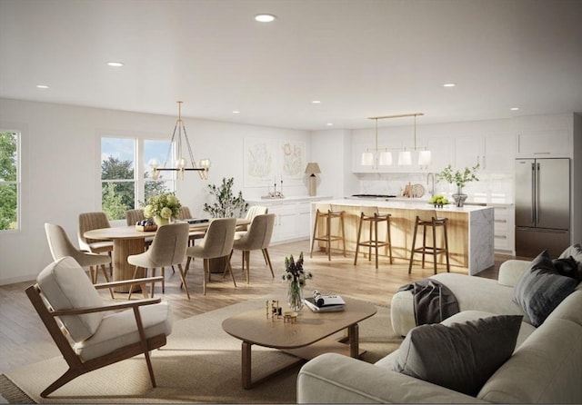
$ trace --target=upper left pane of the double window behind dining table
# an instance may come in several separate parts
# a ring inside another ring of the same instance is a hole
[[[101,179],[134,180],[135,139],[101,138]]]

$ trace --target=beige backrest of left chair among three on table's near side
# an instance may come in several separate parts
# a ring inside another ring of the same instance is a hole
[[[170,223],[157,228],[154,241],[146,252],[156,267],[184,262],[189,229],[190,225],[186,222]]]

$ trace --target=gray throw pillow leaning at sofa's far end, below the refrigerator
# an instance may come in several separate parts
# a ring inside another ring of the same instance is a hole
[[[577,281],[559,275],[547,251],[537,255],[513,289],[513,301],[534,326],[541,325],[559,303],[576,289]]]

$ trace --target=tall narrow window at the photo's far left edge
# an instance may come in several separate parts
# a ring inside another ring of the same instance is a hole
[[[19,141],[20,133],[0,130],[0,231],[19,228]]]

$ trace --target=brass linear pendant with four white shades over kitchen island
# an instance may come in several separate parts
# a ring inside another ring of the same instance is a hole
[[[399,114],[399,115],[384,115],[377,117],[369,117],[370,120],[376,121],[376,148],[373,152],[366,150],[362,153],[362,165],[363,166],[374,166],[376,161],[375,154],[378,154],[378,166],[389,166],[392,164],[392,153],[388,148],[378,148],[378,120],[383,120],[386,118],[402,118],[402,117],[414,117],[414,147],[413,150],[416,152],[416,115],[424,115],[423,113],[413,113],[413,114]],[[428,166],[431,161],[431,153],[424,147],[423,150],[418,151],[418,165]],[[412,164],[412,153],[406,150],[406,146],[400,152],[398,152],[398,165],[406,166]]]

